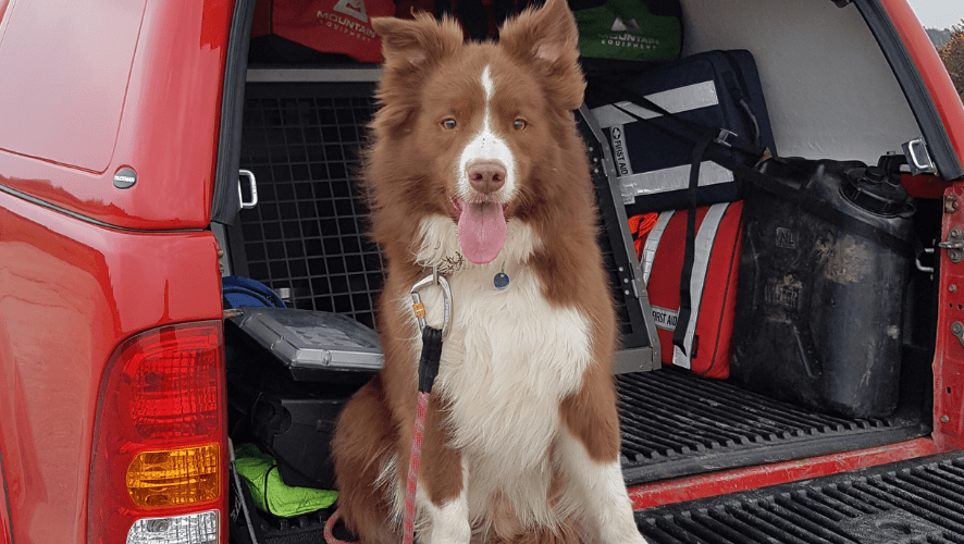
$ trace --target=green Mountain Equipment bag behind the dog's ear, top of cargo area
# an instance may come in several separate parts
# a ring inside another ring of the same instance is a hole
[[[584,59],[664,62],[682,49],[679,2],[658,0],[570,0]]]

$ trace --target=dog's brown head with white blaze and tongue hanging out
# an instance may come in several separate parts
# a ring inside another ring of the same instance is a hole
[[[367,177],[375,214],[393,215],[376,218],[376,237],[415,239],[399,213],[444,215],[458,223],[462,255],[491,262],[507,221],[531,221],[536,202],[567,190],[553,171],[573,153],[560,141],[574,134],[585,86],[571,12],[548,0],[507,22],[498,44],[465,44],[454,21],[425,14],[372,26],[385,63]]]

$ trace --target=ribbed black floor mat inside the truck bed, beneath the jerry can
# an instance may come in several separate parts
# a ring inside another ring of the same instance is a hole
[[[919,415],[844,419],[665,368],[618,378],[628,484],[863,449],[924,436]]]

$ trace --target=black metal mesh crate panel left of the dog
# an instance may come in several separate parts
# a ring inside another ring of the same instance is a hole
[[[258,178],[259,203],[240,214],[248,274],[291,289],[295,308],[372,327],[383,263],[353,180],[373,109],[370,87],[249,86],[240,162]]]

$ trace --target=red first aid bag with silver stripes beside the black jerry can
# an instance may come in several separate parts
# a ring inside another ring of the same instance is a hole
[[[675,346],[680,282],[687,244],[687,214],[696,213],[692,311],[683,346]],[[706,378],[730,374],[730,339],[737,308],[737,273],[743,234],[743,202],[722,202],[695,210],[668,210],[656,217],[637,244],[656,321],[662,359]],[[639,221],[639,220],[635,220]],[[633,220],[631,220],[633,223]],[[647,227],[650,225],[646,225]]]

